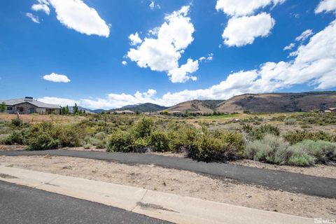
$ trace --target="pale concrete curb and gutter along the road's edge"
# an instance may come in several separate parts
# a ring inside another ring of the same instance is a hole
[[[13,167],[1,166],[0,180],[98,202],[174,223],[314,223],[311,218]]]

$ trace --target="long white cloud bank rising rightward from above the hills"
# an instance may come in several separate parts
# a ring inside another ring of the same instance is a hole
[[[111,93],[104,98],[80,99],[78,104],[89,108],[118,108],[146,102],[172,106],[192,99],[228,99],[237,94],[274,92],[300,84],[325,90],[336,87],[335,36],[336,20],[311,36],[307,44],[300,45],[293,60],[265,62],[258,69],[230,73],[221,83],[208,88],[167,92],[162,97],[158,97],[155,90],[135,94]]]

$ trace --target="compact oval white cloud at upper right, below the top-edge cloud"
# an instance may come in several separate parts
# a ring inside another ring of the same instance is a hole
[[[253,43],[258,36],[268,36],[274,24],[275,20],[268,13],[230,18],[222,37],[225,45],[240,47]]]

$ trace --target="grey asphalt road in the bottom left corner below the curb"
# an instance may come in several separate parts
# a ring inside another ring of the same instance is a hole
[[[0,181],[0,223],[169,223],[104,204]]]

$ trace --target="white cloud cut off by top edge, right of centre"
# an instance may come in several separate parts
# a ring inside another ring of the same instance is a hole
[[[286,0],[217,0],[216,10],[230,16],[252,15],[259,8],[281,4]]]

